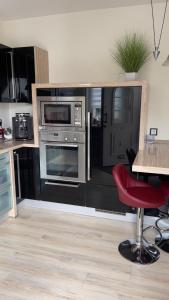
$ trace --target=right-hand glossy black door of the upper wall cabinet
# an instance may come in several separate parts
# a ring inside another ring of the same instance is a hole
[[[16,102],[32,102],[31,84],[35,82],[34,65],[34,47],[13,49]]]

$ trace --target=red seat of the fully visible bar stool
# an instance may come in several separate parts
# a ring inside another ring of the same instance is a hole
[[[157,208],[164,204],[161,189],[132,178],[122,164],[113,168],[113,176],[118,187],[119,200],[126,205],[137,208]]]

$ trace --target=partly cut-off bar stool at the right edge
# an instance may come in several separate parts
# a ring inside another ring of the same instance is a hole
[[[169,198],[169,181],[162,182],[160,188],[165,200],[167,200]],[[155,243],[160,249],[169,253],[169,205],[166,205],[166,208],[166,212],[160,210],[160,217],[156,221],[156,227],[160,230],[162,239],[157,236]]]

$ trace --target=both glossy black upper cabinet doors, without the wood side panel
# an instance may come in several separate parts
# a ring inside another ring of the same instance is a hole
[[[0,45],[0,101],[32,102],[35,83],[34,47]]]

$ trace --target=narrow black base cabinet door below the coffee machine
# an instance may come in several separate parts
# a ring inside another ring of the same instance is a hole
[[[37,199],[40,192],[39,149],[21,148],[14,151],[14,166],[18,200]]]

